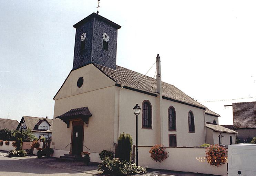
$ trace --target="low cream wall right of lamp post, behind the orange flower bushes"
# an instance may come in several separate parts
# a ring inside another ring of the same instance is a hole
[[[161,163],[151,159],[150,148],[138,147],[138,164],[140,166],[227,176],[227,164],[214,167],[204,160],[206,148],[166,147],[165,151],[168,152],[168,158]]]

